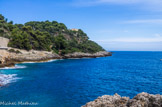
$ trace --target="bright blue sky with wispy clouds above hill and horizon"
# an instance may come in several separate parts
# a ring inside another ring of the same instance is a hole
[[[162,0],[0,0],[0,14],[82,29],[109,51],[162,51]]]

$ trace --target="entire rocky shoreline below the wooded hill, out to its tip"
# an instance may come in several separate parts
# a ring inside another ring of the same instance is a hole
[[[60,56],[56,53],[47,52],[47,51],[26,51],[20,49],[14,49],[15,51],[19,51],[20,53],[9,52],[7,50],[0,50],[0,68],[2,67],[11,67],[16,63],[21,62],[42,62],[48,61],[51,59],[69,59],[69,58],[96,58],[96,57],[105,57],[111,56],[111,52],[100,51],[94,54],[91,53],[82,53],[75,52],[70,54],[65,54],[64,56]]]

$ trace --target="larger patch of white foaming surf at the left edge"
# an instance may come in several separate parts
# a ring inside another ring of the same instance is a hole
[[[16,77],[16,74],[0,74],[0,85],[4,86],[6,84],[12,83],[12,82],[16,82],[17,79],[21,79]]]

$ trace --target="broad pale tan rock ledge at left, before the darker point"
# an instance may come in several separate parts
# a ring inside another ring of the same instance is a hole
[[[26,51],[15,48],[9,48],[15,52],[10,52],[8,50],[0,50],[0,67],[14,66],[18,62],[27,62],[27,61],[46,61],[50,59],[60,59],[61,57],[58,54],[47,52],[47,51]]]

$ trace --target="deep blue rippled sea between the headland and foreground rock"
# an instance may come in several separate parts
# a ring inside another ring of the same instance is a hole
[[[0,69],[14,75],[0,88],[0,102],[37,102],[38,107],[80,107],[102,95],[132,98],[162,94],[162,52],[114,52],[111,57],[22,63]]]

